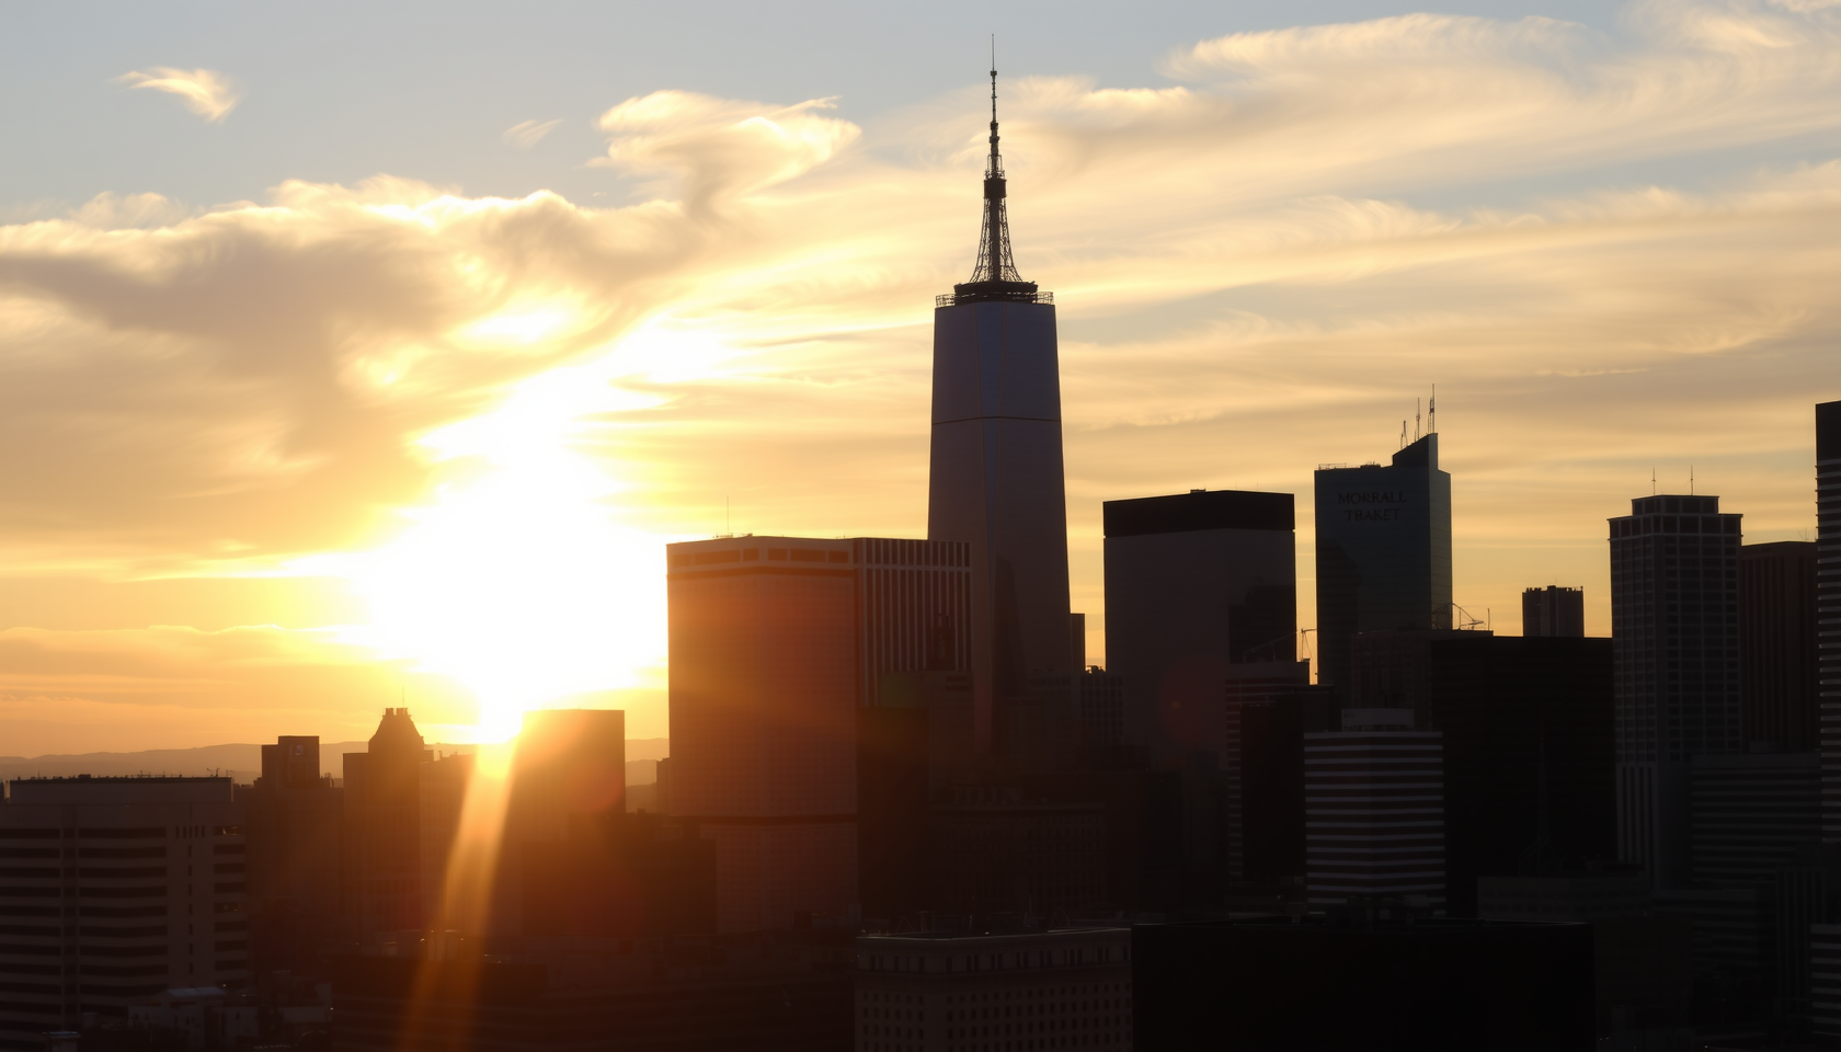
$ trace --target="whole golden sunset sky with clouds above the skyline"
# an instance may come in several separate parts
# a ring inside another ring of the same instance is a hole
[[[1101,501],[1298,494],[1313,626],[1311,472],[1432,385],[1499,632],[1609,634],[1651,472],[1813,538],[1835,0],[20,2],[0,754],[665,735],[666,542],[924,532],[989,33],[1092,660]]]

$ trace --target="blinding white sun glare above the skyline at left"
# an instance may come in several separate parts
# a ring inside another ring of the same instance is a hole
[[[490,470],[405,512],[412,525],[383,549],[304,560],[368,601],[353,641],[473,691],[479,722],[458,737],[506,741],[527,709],[639,685],[663,661],[663,538],[620,527],[620,485],[569,446],[582,416],[650,403],[608,383],[615,357],[550,370],[427,435],[436,462]]]

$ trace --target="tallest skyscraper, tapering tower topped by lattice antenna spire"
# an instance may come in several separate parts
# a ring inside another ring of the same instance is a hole
[[[978,746],[1071,752],[1075,669],[1055,306],[1051,293],[1022,280],[1011,258],[996,70],[978,263],[972,280],[939,297],[933,310],[926,532],[972,549]],[[1044,709],[1044,719],[1003,711],[1029,707]],[[1018,735],[1036,741],[1000,741]]]

